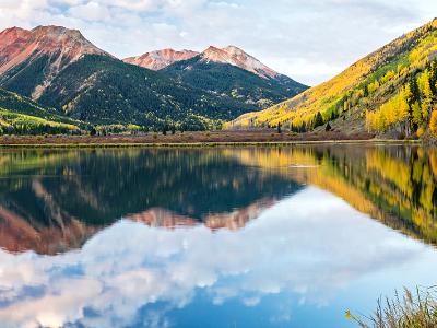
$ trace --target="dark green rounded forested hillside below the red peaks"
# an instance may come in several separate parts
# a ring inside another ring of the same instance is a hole
[[[62,70],[39,102],[93,124],[176,126],[202,130],[253,109],[226,95],[210,94],[105,56],[85,56]]]

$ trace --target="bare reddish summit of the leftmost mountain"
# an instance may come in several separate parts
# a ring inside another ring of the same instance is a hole
[[[0,33],[0,83],[38,98],[57,73],[85,55],[110,56],[78,30],[52,25],[8,28]]]

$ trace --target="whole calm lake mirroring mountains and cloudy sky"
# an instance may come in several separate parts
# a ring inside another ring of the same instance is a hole
[[[0,151],[9,327],[354,327],[437,283],[437,149]]]

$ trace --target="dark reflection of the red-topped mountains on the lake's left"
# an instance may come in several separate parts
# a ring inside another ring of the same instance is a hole
[[[299,189],[213,150],[7,151],[0,163],[0,243],[11,251],[80,247],[130,213],[151,225],[241,227]]]

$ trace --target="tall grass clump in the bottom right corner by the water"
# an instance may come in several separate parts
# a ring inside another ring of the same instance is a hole
[[[395,292],[392,300],[379,298],[370,317],[358,317],[346,311],[346,318],[362,328],[435,328],[437,327],[437,286],[416,289],[412,293],[404,289]]]

